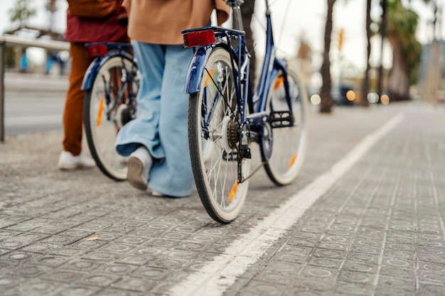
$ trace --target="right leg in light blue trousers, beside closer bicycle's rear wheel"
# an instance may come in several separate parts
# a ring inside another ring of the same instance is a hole
[[[149,187],[173,197],[190,195],[194,184],[188,151],[188,94],[184,93],[192,56],[191,48],[166,45],[159,119],[159,137],[165,158],[151,168]]]

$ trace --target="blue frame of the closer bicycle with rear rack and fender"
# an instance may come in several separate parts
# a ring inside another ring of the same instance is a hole
[[[282,71],[284,78],[284,89],[286,89],[286,101],[289,105],[289,110],[291,110],[291,99],[288,91],[289,82],[287,80],[287,70],[286,61],[278,60],[275,57],[275,46],[272,34],[272,20],[271,13],[269,11],[269,6],[267,5],[266,11],[267,19],[267,35],[266,35],[266,50],[264,54],[264,61],[262,63],[262,69],[259,77],[259,84],[257,85],[256,92],[252,94],[252,85],[250,82],[249,73],[249,53],[245,45],[245,31],[232,30],[220,27],[203,27],[203,28],[193,28],[189,30],[183,30],[183,34],[187,33],[200,33],[206,31],[213,31],[215,36],[215,42],[209,42],[204,45],[192,45],[195,53],[188,67],[185,92],[187,94],[193,94],[200,90],[200,82],[203,79],[205,72],[205,63],[210,56],[213,48],[216,46],[223,46],[230,53],[230,60],[232,61],[232,69],[234,77],[237,77],[236,83],[236,94],[237,94],[237,106],[239,108],[238,113],[240,114],[240,130],[249,130],[250,138],[249,140],[259,141],[264,128],[264,119],[269,116],[265,111],[267,104],[267,96],[269,95],[269,89],[272,86],[272,78],[277,74],[278,71]],[[232,48],[230,45],[230,40],[238,40],[237,46]],[[207,43],[207,42],[204,42]],[[238,71],[234,67],[235,60],[237,65],[240,65]],[[242,86],[244,87],[244,92],[242,92]],[[249,108],[249,116],[247,116],[247,108]],[[294,124],[293,116],[289,118],[278,119],[277,121],[286,121],[286,126],[291,126]],[[247,140],[241,141],[242,144],[247,144]],[[261,145],[261,143],[260,143]],[[247,146],[247,145],[246,145]],[[262,151],[266,151],[262,149]],[[247,153],[250,155],[250,153]],[[243,155],[245,156],[245,155]],[[247,156],[248,157],[248,156]],[[269,160],[269,153],[263,152],[262,158],[264,161]]]

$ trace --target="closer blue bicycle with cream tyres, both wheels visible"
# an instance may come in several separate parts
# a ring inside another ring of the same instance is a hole
[[[210,217],[228,224],[240,214],[250,177],[264,166],[276,185],[288,185],[306,154],[308,97],[299,77],[275,57],[266,1],[266,50],[256,91],[250,82],[240,6],[227,0],[235,29],[183,30],[193,48],[185,91],[189,94],[188,143],[195,185]],[[261,163],[251,171],[251,143]]]

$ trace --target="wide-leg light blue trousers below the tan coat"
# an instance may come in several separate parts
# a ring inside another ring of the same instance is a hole
[[[184,83],[191,48],[154,45],[133,40],[141,72],[136,119],[118,133],[117,152],[128,156],[143,145],[154,158],[148,186],[172,197],[185,197],[193,189],[188,151],[188,95]]]

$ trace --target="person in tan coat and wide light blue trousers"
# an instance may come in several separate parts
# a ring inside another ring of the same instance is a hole
[[[127,180],[154,196],[187,197],[193,190],[188,152],[188,95],[184,82],[193,49],[183,47],[181,30],[206,26],[223,0],[125,0],[128,35],[141,72],[136,119],[123,126],[116,150],[129,156]],[[174,16],[174,17],[172,17]]]

